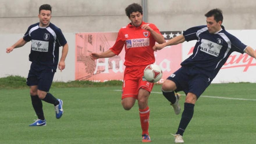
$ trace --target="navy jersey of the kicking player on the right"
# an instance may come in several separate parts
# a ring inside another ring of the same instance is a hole
[[[214,34],[209,33],[207,26],[196,26],[184,31],[186,41],[197,42],[193,54],[181,65],[199,68],[209,78],[214,79],[233,51],[243,54],[247,46],[225,31],[223,26],[222,28]]]

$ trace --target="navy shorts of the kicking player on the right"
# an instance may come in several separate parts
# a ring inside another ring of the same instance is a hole
[[[193,93],[197,98],[200,97],[212,81],[203,72],[187,66],[182,66],[167,79],[176,84],[177,89],[175,92],[184,91],[186,95],[187,93]]]

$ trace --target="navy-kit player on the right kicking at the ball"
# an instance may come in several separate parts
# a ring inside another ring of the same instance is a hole
[[[184,31],[168,42],[155,45],[154,50],[160,50],[168,45],[177,45],[184,41],[197,40],[193,54],[181,63],[181,68],[166,79],[162,85],[163,95],[171,102],[176,114],[180,113],[178,91],[186,93],[184,111],[175,136],[175,143],[184,143],[183,133],[189,124],[197,99],[209,86],[227,58],[233,51],[244,52],[253,58],[256,52],[244,45],[239,39],[225,31],[220,9],[210,10],[205,14],[207,25],[196,26]]]

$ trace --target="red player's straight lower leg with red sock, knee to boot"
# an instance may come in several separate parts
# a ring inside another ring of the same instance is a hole
[[[141,119],[141,129],[142,129],[142,142],[151,142],[148,127],[149,127],[149,116],[150,109],[148,106],[149,91],[140,88],[138,93],[138,105]]]

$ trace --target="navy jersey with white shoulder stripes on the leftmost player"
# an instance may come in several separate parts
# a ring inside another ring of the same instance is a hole
[[[39,23],[29,26],[23,39],[32,40],[29,61],[49,65],[55,71],[58,65],[59,47],[67,43],[61,29],[50,23],[40,27]]]

